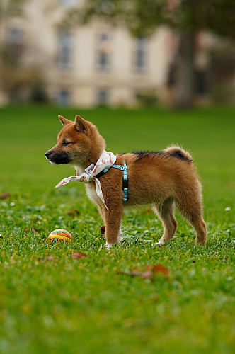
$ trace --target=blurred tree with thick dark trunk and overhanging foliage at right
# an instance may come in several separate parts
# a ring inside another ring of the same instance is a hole
[[[235,5],[232,0],[86,0],[84,8],[70,14],[87,23],[99,16],[122,23],[135,36],[147,36],[160,25],[178,33],[176,86],[177,108],[193,104],[195,38],[200,30],[235,39]]]

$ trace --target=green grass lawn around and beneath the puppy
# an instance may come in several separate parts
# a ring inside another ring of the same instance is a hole
[[[153,248],[161,222],[128,210],[125,241],[104,249],[103,222],[84,185],[55,190],[74,171],[44,156],[61,127],[57,115],[76,113],[98,125],[114,153],[173,142],[190,150],[203,184],[207,246],[194,247],[192,227],[177,215],[171,244]],[[0,353],[234,353],[234,115],[234,108],[0,109],[0,193],[11,193],[0,200]],[[81,214],[66,214],[74,208]],[[45,243],[57,227],[72,233],[71,244]],[[76,251],[87,258],[71,258]],[[119,273],[148,264],[171,274]]]

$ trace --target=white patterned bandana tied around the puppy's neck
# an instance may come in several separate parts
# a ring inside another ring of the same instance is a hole
[[[101,182],[98,180],[98,178],[96,178],[96,176],[101,171],[108,169],[110,166],[115,164],[116,159],[117,157],[113,154],[113,152],[106,152],[105,150],[103,150],[101,156],[96,162],[96,165],[91,164],[90,166],[88,166],[88,168],[85,169],[86,172],[81,173],[80,176],[78,176],[78,172],[76,171],[76,176],[70,176],[62,179],[62,181],[60,181],[55,186],[55,188],[59,188],[62,185],[66,185],[70,181],[79,181],[84,183],[90,183],[91,181],[94,181],[96,185],[96,194],[98,195],[98,198],[102,200],[103,204],[105,205],[105,208],[108,210],[108,207],[105,204],[105,200],[103,198]]]

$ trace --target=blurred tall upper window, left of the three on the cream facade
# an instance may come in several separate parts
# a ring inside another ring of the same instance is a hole
[[[58,65],[62,69],[71,66],[71,33],[59,33]]]

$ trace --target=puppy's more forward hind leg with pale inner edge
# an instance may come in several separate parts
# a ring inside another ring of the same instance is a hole
[[[176,234],[177,222],[174,215],[175,200],[173,198],[167,198],[161,205],[154,205],[154,211],[164,225],[164,234],[159,244],[166,244],[166,242],[170,241],[174,234]]]

